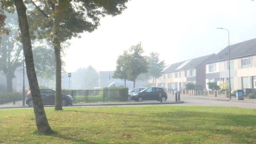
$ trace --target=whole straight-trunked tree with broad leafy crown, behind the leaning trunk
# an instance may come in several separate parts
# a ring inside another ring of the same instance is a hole
[[[39,38],[53,43],[56,65],[55,110],[61,107],[61,43],[79,33],[92,32],[105,15],[116,16],[126,9],[128,0],[28,0],[30,26]]]

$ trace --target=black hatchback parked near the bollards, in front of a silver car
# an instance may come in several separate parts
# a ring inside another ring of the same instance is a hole
[[[162,94],[162,101],[167,100],[167,93],[161,87],[150,87],[146,88],[139,93],[132,94],[132,100],[143,101],[143,100],[160,100],[160,93]]]

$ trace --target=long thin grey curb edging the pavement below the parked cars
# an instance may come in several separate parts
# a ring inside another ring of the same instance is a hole
[[[66,107],[74,107],[74,106],[118,106],[118,105],[162,105],[162,104],[181,104],[184,101],[178,102],[163,102],[163,103],[128,103],[128,104],[81,104],[81,105],[71,105]],[[44,107],[54,107],[54,106],[44,106]],[[30,108],[30,107],[0,107],[0,109],[11,109],[11,108]]]

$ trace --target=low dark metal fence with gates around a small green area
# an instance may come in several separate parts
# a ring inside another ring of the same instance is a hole
[[[119,101],[120,90],[72,90],[75,102],[106,102]]]

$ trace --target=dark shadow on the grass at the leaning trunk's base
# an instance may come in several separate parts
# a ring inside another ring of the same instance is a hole
[[[38,134],[38,135],[45,135],[45,136],[49,136],[49,137],[57,137],[57,138],[60,138],[60,139],[64,139],[64,140],[69,140],[69,141],[72,141],[72,142],[79,142],[79,143],[86,143],[86,144],[98,144],[96,142],[91,142],[91,141],[88,141],[88,140],[83,140],[83,139],[76,139],[76,138],[73,138],[73,137],[69,137],[67,135],[63,135],[57,131],[54,131],[52,130],[51,132],[48,132],[48,133],[38,133],[37,131],[33,132],[34,134]]]

